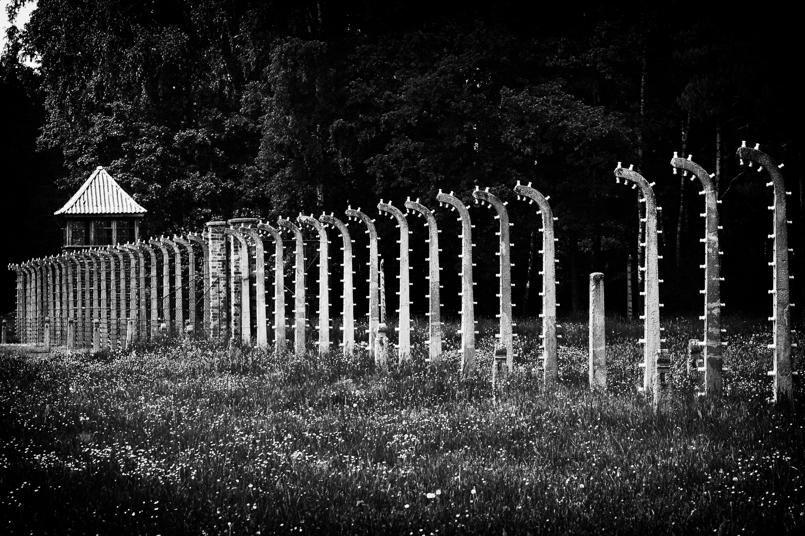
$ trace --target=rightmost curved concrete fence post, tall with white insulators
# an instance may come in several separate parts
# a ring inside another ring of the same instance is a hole
[[[749,166],[752,166],[753,162],[757,163],[758,172],[765,169],[771,178],[766,186],[774,187],[774,205],[769,207],[770,211],[774,211],[774,229],[769,235],[769,238],[774,239],[774,260],[769,263],[773,276],[769,293],[774,305],[774,316],[769,317],[769,320],[772,321],[774,329],[774,342],[770,344],[774,355],[774,370],[770,370],[768,374],[774,376],[774,401],[784,399],[791,402],[794,399],[794,384],[791,379],[791,307],[794,304],[791,303],[788,288],[788,280],[793,277],[788,275],[788,252],[792,250],[788,248],[786,227],[791,223],[786,220],[786,195],[790,195],[791,192],[786,192],[786,184],[780,173],[782,164],[778,166],[768,154],[763,153],[760,144],[752,149],[747,147],[744,141],[738,149],[737,156],[741,164],[744,163],[744,159],[749,161]]]

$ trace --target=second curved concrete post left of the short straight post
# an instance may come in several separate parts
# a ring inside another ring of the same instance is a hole
[[[497,338],[500,339],[500,345],[503,350],[506,350],[506,371],[511,372],[514,370],[514,343],[511,317],[511,255],[509,242],[509,211],[506,210],[507,202],[502,202],[497,196],[489,193],[489,188],[480,190],[478,186],[473,191],[475,203],[483,201],[486,203],[487,208],[494,208],[497,214],[495,219],[500,220],[500,230],[497,235],[500,237],[500,245],[498,247],[497,256],[500,257],[498,263],[499,272],[497,277],[500,280],[500,290],[497,297],[500,300],[500,307],[497,317],[500,318],[500,333],[497,333]]]

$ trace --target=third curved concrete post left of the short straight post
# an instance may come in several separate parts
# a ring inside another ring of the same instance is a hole
[[[461,374],[475,371],[475,302],[473,301],[473,225],[469,220],[469,211],[464,202],[450,194],[439,190],[436,199],[440,205],[444,203],[451,211],[458,211],[461,222]]]

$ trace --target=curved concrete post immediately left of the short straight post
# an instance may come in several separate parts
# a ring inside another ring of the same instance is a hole
[[[543,269],[539,272],[543,276],[543,290],[539,293],[543,297],[543,312],[539,317],[543,319],[543,333],[540,338],[543,339],[543,382],[545,384],[556,383],[559,380],[559,358],[557,357],[557,340],[556,329],[559,325],[556,324],[556,260],[555,256],[555,243],[557,239],[554,236],[554,222],[556,217],[551,211],[551,205],[548,204],[550,195],[545,196],[539,191],[531,188],[531,183],[528,186],[521,186],[518,181],[517,186],[514,186],[514,193],[518,195],[518,199],[522,196],[528,199],[528,203],[537,203],[539,210],[537,215],[543,217],[543,227],[539,231],[543,233],[543,248],[539,252],[543,256]]]

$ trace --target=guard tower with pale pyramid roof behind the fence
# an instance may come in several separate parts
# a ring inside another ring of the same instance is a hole
[[[134,243],[146,212],[98,166],[64,207],[54,212],[62,231],[62,252]]]

